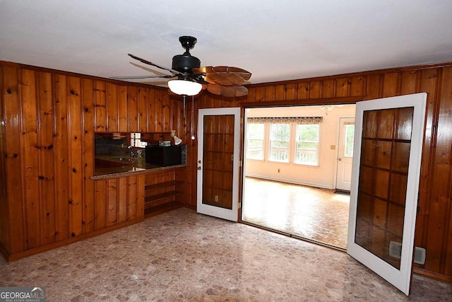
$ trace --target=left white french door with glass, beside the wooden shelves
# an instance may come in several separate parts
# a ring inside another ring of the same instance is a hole
[[[240,108],[198,113],[198,213],[237,221]]]

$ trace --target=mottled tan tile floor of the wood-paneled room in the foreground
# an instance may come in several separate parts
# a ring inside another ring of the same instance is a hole
[[[14,262],[0,286],[47,301],[451,301],[415,276],[408,298],[344,252],[182,208]]]

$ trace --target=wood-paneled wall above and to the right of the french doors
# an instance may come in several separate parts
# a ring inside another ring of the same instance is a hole
[[[452,281],[452,63],[368,71],[248,86],[246,97],[203,94],[199,108],[355,103],[426,92],[415,245],[427,250],[415,271]],[[196,171],[194,171],[196,176]]]

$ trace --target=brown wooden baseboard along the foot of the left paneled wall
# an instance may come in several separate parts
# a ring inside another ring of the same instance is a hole
[[[25,258],[25,257],[29,257],[31,255],[36,255],[39,254],[40,252],[45,252],[47,250],[53,250],[54,248],[61,248],[64,245],[69,245],[71,243],[76,243],[77,241],[81,241],[81,240],[85,240],[94,236],[98,236],[100,234],[103,233],[107,233],[110,231],[114,231],[117,230],[118,228],[124,228],[124,226],[130,226],[134,223],[143,221],[144,217],[138,217],[136,219],[130,220],[130,221],[125,221],[122,223],[118,223],[115,224],[114,226],[107,226],[106,228],[102,228],[100,230],[97,231],[93,231],[90,233],[85,233],[85,234],[81,234],[72,238],[67,238],[61,241],[57,241],[55,243],[49,243],[47,245],[42,245],[40,247],[37,248],[32,248],[30,250],[24,250],[23,252],[15,252],[15,253],[9,253],[6,250],[0,249],[1,255],[3,255],[3,257],[5,258],[6,261],[10,262],[10,261],[14,261],[14,260],[19,260],[21,258]]]

